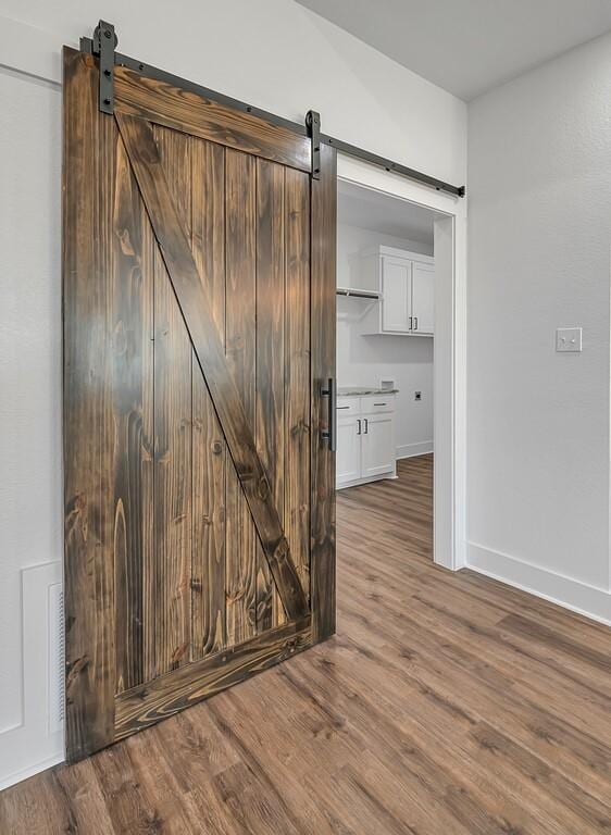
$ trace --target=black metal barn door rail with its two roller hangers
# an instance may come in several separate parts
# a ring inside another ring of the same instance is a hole
[[[103,28],[107,27],[107,28]],[[108,29],[112,29],[113,38],[109,38],[105,34],[102,34],[100,38],[98,30],[105,33]],[[272,125],[278,127],[285,127],[299,136],[308,136],[312,141],[312,177],[317,178],[317,172],[320,171],[320,147],[321,145],[328,145],[335,148],[339,153],[344,153],[347,157],[352,157],[357,160],[362,160],[370,165],[375,165],[378,169],[384,169],[392,174],[397,174],[400,177],[406,177],[414,183],[420,183],[423,186],[434,188],[436,191],[444,191],[445,194],[452,195],[453,197],[464,197],[466,194],[465,186],[454,186],[451,183],[445,183],[442,179],[432,177],[429,174],[424,174],[415,169],[410,169],[408,165],[403,165],[400,162],[395,162],[386,157],[381,157],[377,153],[372,153],[364,148],[359,148],[350,142],[345,142],[342,139],[337,139],[333,136],[321,133],[321,117],[316,111],[308,111],[308,115],[303,124],[299,122],[292,122],[283,116],[278,116],[275,113],[270,113],[266,110],[257,108],[253,104],[247,104],[244,101],[234,99],[230,96],[225,96],[216,90],[211,90],[209,87],[203,87],[200,84],[195,84],[186,78],[182,78],[178,75],[173,75],[164,70],[160,70],[151,64],[146,64],[142,61],[138,61],[129,55],[124,55],[121,52],[116,52],[117,38],[112,24],[100,21],[93,38],[83,37],[80,38],[80,51],[89,52],[90,54],[100,57],[100,110],[103,113],[113,112],[113,75],[112,70],[114,66],[125,66],[128,70],[133,70],[140,75],[151,78],[157,82],[163,82],[170,84],[173,87],[178,87],[188,92],[195,92],[211,101],[216,101],[219,104],[224,104],[227,108],[240,111],[242,113],[250,113],[253,116],[263,119]],[[110,49],[112,46],[112,50]],[[110,71],[110,76],[108,75]],[[103,79],[102,79],[102,76]],[[103,84],[103,89],[102,89]],[[108,100],[108,102],[107,102]],[[317,161],[317,162],[316,162]]]

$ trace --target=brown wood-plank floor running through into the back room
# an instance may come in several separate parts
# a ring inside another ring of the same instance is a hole
[[[611,631],[432,562],[432,459],[338,495],[338,634],[0,794],[0,833],[611,832]]]

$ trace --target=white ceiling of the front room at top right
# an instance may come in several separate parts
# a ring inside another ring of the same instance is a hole
[[[469,101],[611,29],[611,0],[297,0]]]

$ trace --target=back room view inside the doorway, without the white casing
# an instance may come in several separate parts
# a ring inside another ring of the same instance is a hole
[[[433,559],[435,212],[338,182],[337,459],[344,504],[392,507]],[[378,518],[381,527],[385,526]]]

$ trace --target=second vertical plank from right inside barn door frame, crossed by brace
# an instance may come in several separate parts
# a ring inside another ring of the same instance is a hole
[[[285,525],[285,171],[257,161],[257,449]],[[290,544],[290,539],[289,539]],[[295,556],[294,556],[295,560]],[[297,564],[297,563],[296,563]],[[257,548],[257,631],[284,622],[261,546]]]

